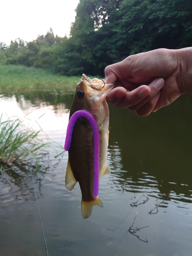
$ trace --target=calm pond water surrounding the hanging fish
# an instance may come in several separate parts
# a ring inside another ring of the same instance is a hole
[[[2,94],[0,114],[27,116],[63,145],[72,99]],[[110,105],[111,174],[99,184],[104,207],[94,206],[88,220],[79,185],[65,187],[68,153],[58,159],[53,151],[34,175],[49,256],[191,255],[191,117],[187,95],[142,118]],[[2,172],[0,181],[0,255],[46,255],[31,173]]]

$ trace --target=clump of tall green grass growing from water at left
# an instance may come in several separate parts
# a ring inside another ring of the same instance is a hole
[[[36,162],[39,168],[40,157],[48,154],[47,148],[51,146],[48,138],[42,139],[39,131],[33,131],[22,120],[0,118],[0,166],[29,165]],[[2,167],[1,167],[2,170]]]

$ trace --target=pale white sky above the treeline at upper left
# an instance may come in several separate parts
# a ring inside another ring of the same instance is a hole
[[[58,36],[70,33],[79,0],[9,0],[0,9],[0,42],[10,45],[16,38],[24,41],[46,35],[50,28]]]

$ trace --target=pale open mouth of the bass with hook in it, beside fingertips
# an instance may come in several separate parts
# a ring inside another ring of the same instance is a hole
[[[105,83],[105,79],[93,78],[90,79],[87,75],[82,74],[82,79],[87,87],[89,94],[98,96],[99,101],[103,101],[106,95],[115,87],[115,82]]]

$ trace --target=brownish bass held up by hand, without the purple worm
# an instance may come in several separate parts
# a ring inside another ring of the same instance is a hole
[[[106,165],[109,107],[105,98],[114,86],[115,83],[105,84],[102,79],[90,79],[83,74],[77,84],[69,116],[70,119],[77,111],[85,110],[96,120],[99,130],[99,180],[103,175],[110,173]],[[88,219],[93,206],[103,207],[103,204],[98,196],[94,195],[94,138],[91,123],[86,117],[78,118],[74,124],[68,154],[66,188],[72,190],[79,182],[82,194],[81,213],[84,219]]]

